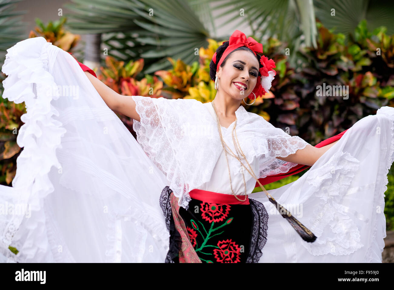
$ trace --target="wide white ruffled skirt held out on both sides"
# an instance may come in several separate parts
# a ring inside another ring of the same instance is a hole
[[[43,37],[7,52],[3,97],[24,101],[27,113],[13,186],[0,186],[0,260],[164,262],[164,174],[70,54]],[[318,237],[314,243],[265,193],[249,195],[269,214],[260,262],[382,261],[393,122],[391,107],[362,118],[301,178],[268,191]]]

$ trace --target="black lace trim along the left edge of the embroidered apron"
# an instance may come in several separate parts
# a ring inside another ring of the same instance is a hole
[[[170,199],[171,192],[172,190],[169,186],[166,186],[160,195],[160,207],[162,208],[165,217],[165,225],[167,226],[167,230],[170,232],[169,250],[165,257],[165,263],[175,263],[178,261],[179,250],[182,246],[182,238],[179,232],[175,229],[175,223],[172,215]]]

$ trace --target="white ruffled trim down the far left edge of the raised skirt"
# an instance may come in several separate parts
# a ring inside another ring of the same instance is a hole
[[[2,67],[2,71],[7,75],[3,82],[3,97],[15,103],[24,101],[27,111],[21,116],[24,125],[20,127],[17,137],[17,144],[23,147],[23,151],[17,159],[18,169],[12,181],[17,196],[11,197],[11,200],[31,204],[32,211],[37,212],[41,210],[42,199],[53,191],[48,172],[52,166],[60,167],[55,151],[65,133],[61,123],[52,119],[52,116],[57,115],[58,112],[50,105],[50,101],[59,96],[46,94],[46,86],[55,85],[52,75],[47,71],[48,45],[51,43],[47,43],[43,37],[20,41],[7,49],[6,62]],[[32,56],[33,54],[35,57]],[[35,98],[35,91],[39,95],[37,98]],[[33,128],[40,128],[41,135],[36,136],[37,130]],[[41,155],[37,156],[37,153]],[[35,168],[35,174],[30,170],[31,168]],[[41,186],[34,186],[34,184],[41,184]],[[23,253],[26,258],[32,258],[37,252],[47,250],[39,249],[44,244],[38,241],[46,237],[45,231],[37,230],[37,228],[45,227],[45,216],[40,213],[32,213],[32,216],[35,218],[26,219],[24,227],[35,231],[36,241],[18,243],[20,251],[18,257]],[[11,244],[23,218],[21,215],[12,215],[6,221],[5,230],[1,236],[2,247],[5,249]]]

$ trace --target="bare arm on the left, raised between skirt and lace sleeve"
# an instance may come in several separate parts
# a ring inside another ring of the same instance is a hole
[[[87,71],[85,71],[85,75],[111,110],[140,122],[141,118],[136,111],[136,102],[131,96],[118,94]]]

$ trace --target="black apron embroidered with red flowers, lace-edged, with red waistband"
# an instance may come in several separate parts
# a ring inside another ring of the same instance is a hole
[[[170,231],[165,262],[195,261],[188,260],[193,254],[203,263],[258,262],[268,229],[268,213],[261,202],[251,198],[242,202],[233,195],[200,189],[193,189],[189,195],[188,210],[177,207],[175,213],[177,198],[172,190],[166,186],[160,196]],[[238,198],[243,200],[245,196]],[[181,236],[188,237],[187,245],[185,238],[182,244]]]

